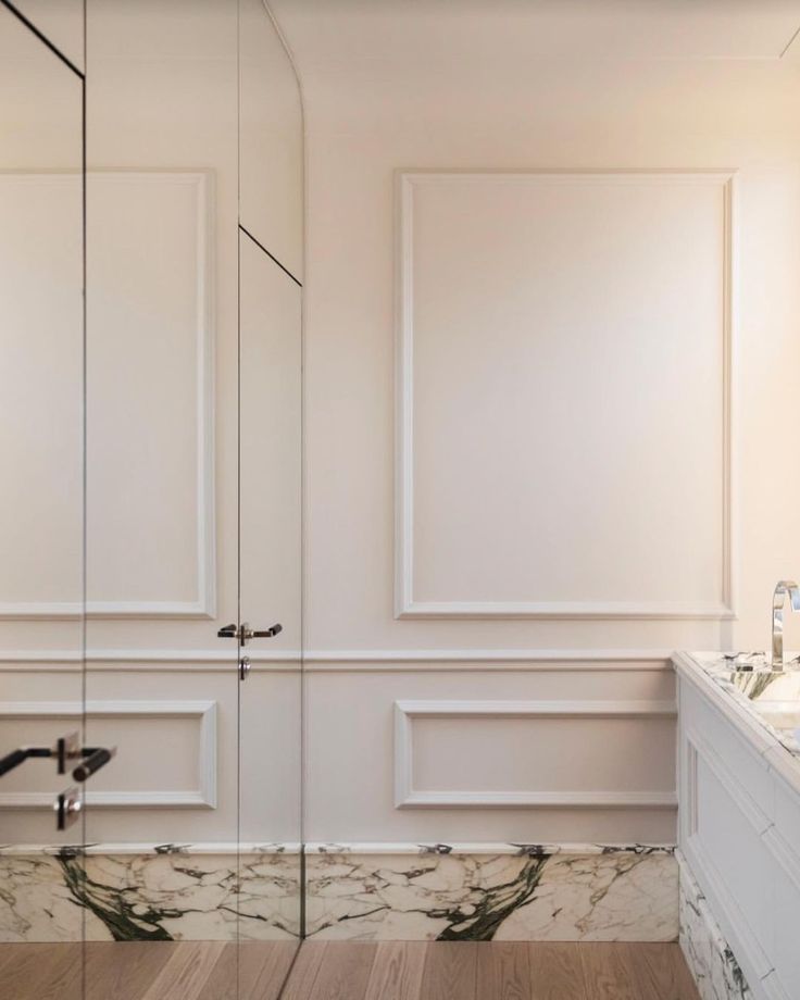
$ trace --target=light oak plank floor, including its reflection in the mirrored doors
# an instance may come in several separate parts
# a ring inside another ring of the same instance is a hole
[[[0,984],[3,1000],[698,998],[677,945],[0,945]]]

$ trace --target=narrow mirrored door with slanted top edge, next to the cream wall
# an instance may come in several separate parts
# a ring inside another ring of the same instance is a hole
[[[242,233],[240,607],[255,634],[241,649],[242,997],[276,996],[301,933],[300,307],[298,284]]]

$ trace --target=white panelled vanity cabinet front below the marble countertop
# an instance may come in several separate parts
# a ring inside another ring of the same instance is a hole
[[[800,998],[800,760],[687,654],[679,848],[755,998]]]

